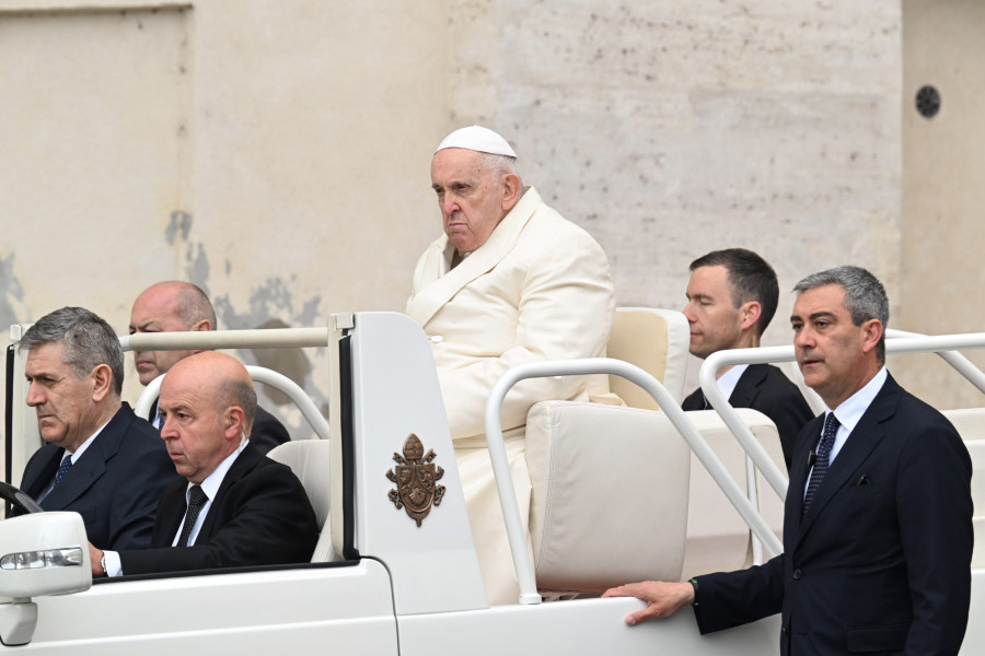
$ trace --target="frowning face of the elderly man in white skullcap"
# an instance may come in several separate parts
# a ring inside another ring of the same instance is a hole
[[[484,166],[482,153],[447,148],[431,160],[431,187],[444,222],[444,234],[459,253],[486,243],[507,215],[502,175]]]

